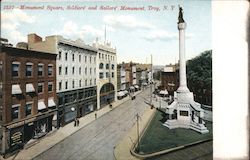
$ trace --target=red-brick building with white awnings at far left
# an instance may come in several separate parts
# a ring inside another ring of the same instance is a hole
[[[1,153],[6,154],[56,129],[56,54],[1,48]]]

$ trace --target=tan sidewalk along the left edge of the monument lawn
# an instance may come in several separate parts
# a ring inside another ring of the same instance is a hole
[[[148,107],[143,115],[141,116],[141,120],[139,121],[139,132],[140,135],[144,131],[144,128],[148,125],[148,122],[152,119],[156,109],[151,109]],[[125,137],[115,146],[114,149],[114,159],[115,160],[138,160],[138,158],[134,157],[130,153],[130,149],[137,142],[137,125],[135,125],[130,129]]]

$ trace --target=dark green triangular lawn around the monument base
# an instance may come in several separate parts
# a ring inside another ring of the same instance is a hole
[[[163,122],[164,117],[161,112],[156,111],[151,123],[140,140],[140,153],[154,153],[213,137],[211,122],[206,122],[209,133],[200,134],[191,129],[168,129],[163,126],[165,122]],[[136,151],[137,150],[138,148]]]

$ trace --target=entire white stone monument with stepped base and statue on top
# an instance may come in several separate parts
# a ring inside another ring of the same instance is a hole
[[[180,59],[180,85],[174,93],[174,101],[165,108],[167,121],[163,124],[169,129],[190,128],[199,133],[208,133],[201,105],[194,101],[193,93],[187,87],[186,58],[185,58],[185,29],[186,23],[183,19],[183,9],[179,7],[178,17],[179,30],[179,59]]]

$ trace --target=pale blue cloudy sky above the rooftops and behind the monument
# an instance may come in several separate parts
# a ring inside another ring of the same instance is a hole
[[[20,9],[20,6],[44,7]],[[67,6],[84,7],[69,10]],[[117,49],[117,61],[166,65],[178,62],[178,5],[184,10],[186,28],[186,57],[191,59],[211,49],[211,1],[198,0],[137,0],[137,1],[10,1],[1,5],[1,37],[10,43],[27,41],[27,35],[37,33],[42,38],[62,35],[82,39],[86,44],[98,37],[111,42]],[[116,10],[101,10],[117,7]],[[142,11],[120,10],[121,6],[144,7]],[[150,7],[154,8],[150,10]],[[13,9],[13,8],[14,9]],[[54,8],[50,10],[49,8]],[[56,10],[55,8],[64,10]],[[96,7],[97,10],[88,10]],[[159,8],[156,9],[156,8]]]

